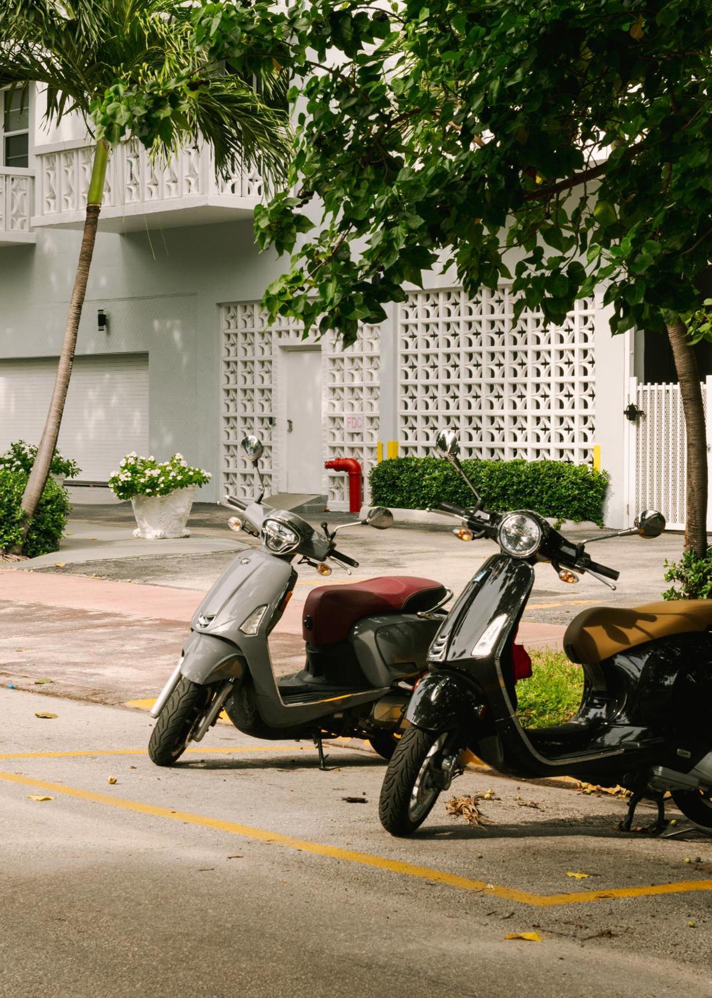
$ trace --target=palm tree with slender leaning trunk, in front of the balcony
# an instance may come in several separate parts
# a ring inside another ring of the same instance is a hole
[[[46,120],[58,124],[78,113],[94,143],[57,379],[22,500],[23,537],[59,435],[112,151],[135,139],[168,160],[182,146],[204,143],[225,178],[244,165],[276,180],[286,165],[281,64],[253,55],[251,46],[262,47],[257,31],[225,64],[210,52],[193,15],[193,5],[181,0],[4,0],[0,6],[0,81],[13,88],[39,84]]]

